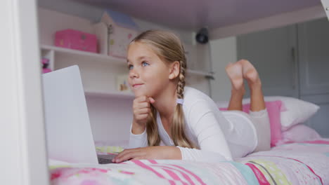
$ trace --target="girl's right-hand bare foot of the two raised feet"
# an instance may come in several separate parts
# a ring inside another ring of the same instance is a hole
[[[242,66],[243,78],[247,80],[250,88],[261,85],[257,70],[248,60],[239,60],[237,63]]]

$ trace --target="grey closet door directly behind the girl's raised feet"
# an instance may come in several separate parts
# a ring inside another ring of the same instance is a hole
[[[238,60],[249,60],[257,68],[266,96],[298,97],[296,32],[292,25],[237,37]],[[246,90],[249,96],[247,84]]]

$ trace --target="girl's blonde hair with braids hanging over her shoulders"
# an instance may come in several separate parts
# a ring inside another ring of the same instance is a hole
[[[136,36],[131,43],[145,43],[165,62],[179,62],[179,82],[177,85],[177,98],[183,99],[186,73],[186,57],[183,45],[175,34],[160,30],[148,30]],[[151,112],[146,123],[148,146],[158,146],[160,136],[157,128],[157,110],[151,105]],[[194,144],[185,135],[185,122],[183,107],[176,105],[172,121],[172,140],[176,146],[195,148]]]

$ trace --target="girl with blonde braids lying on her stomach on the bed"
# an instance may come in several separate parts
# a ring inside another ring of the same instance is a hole
[[[138,35],[129,44],[127,66],[129,85],[135,94],[134,120],[129,149],[119,153],[113,162],[218,162],[270,149],[262,84],[247,60],[226,67],[232,83],[227,112],[219,111],[214,101],[199,90],[185,87],[184,49],[179,38],[170,32],[149,30]],[[242,111],[243,78],[251,92],[250,114]]]

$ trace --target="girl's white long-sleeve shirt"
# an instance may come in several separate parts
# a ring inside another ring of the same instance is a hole
[[[177,146],[181,150],[183,160],[203,162],[233,160],[226,136],[238,133],[234,133],[236,132],[234,124],[223,116],[217,104],[210,97],[199,90],[186,87],[183,114],[186,136],[199,148],[188,149]],[[249,126],[247,123],[245,125]],[[157,126],[163,144],[174,146],[174,142],[164,130],[159,113],[157,113]],[[146,130],[141,135],[134,135],[130,129],[129,148],[146,146],[148,146]]]

